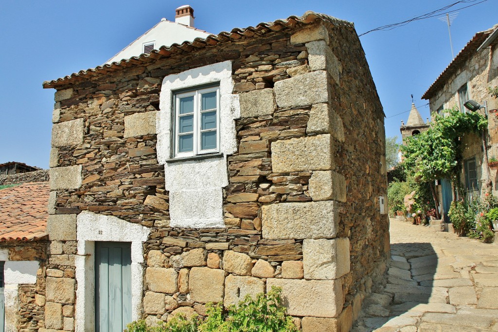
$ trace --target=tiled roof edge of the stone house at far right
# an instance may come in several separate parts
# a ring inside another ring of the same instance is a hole
[[[424,93],[422,99],[430,99],[434,94],[444,87],[446,81],[453,75],[457,70],[465,64],[465,62],[472,57],[474,52],[481,46],[481,44],[488,38],[488,36],[497,29],[497,26],[493,28],[478,32],[472,37],[472,39],[465,45],[464,48],[457,54],[455,59],[450,62],[448,67],[439,75],[439,77],[431,84],[429,89]]]

